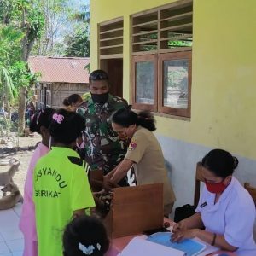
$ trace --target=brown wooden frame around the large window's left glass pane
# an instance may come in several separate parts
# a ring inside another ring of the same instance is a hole
[[[143,61],[154,61],[154,104],[145,104],[145,103],[137,103],[136,102],[136,64],[138,62]],[[149,111],[157,111],[157,104],[158,104],[158,63],[157,63],[157,55],[137,55],[132,56],[131,61],[131,78],[132,78],[132,86],[131,86],[131,103],[132,108],[139,109],[139,110],[149,110]]]

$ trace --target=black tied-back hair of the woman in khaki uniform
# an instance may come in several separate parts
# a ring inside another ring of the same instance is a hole
[[[143,110],[140,113],[135,113],[131,109],[122,108],[113,113],[113,123],[123,127],[130,125],[141,125],[149,131],[155,131],[155,119],[152,113]]]

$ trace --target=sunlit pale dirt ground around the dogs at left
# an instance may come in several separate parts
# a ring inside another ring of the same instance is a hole
[[[34,137],[19,137],[19,146],[28,147],[35,146],[41,141],[41,137],[35,133]],[[12,158],[20,160],[19,171],[15,173],[14,181],[18,185],[20,192],[23,195],[24,183],[26,179],[27,167],[33,154],[33,150],[30,151],[18,151],[17,154],[4,154],[4,158]],[[0,172],[5,172],[9,169],[9,166],[0,166]]]

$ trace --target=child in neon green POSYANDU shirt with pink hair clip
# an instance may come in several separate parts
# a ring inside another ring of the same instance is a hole
[[[53,115],[49,133],[55,147],[38,160],[33,175],[38,256],[62,256],[61,230],[85,208],[95,207],[86,164],[73,150],[83,130],[78,113],[60,109]]]

